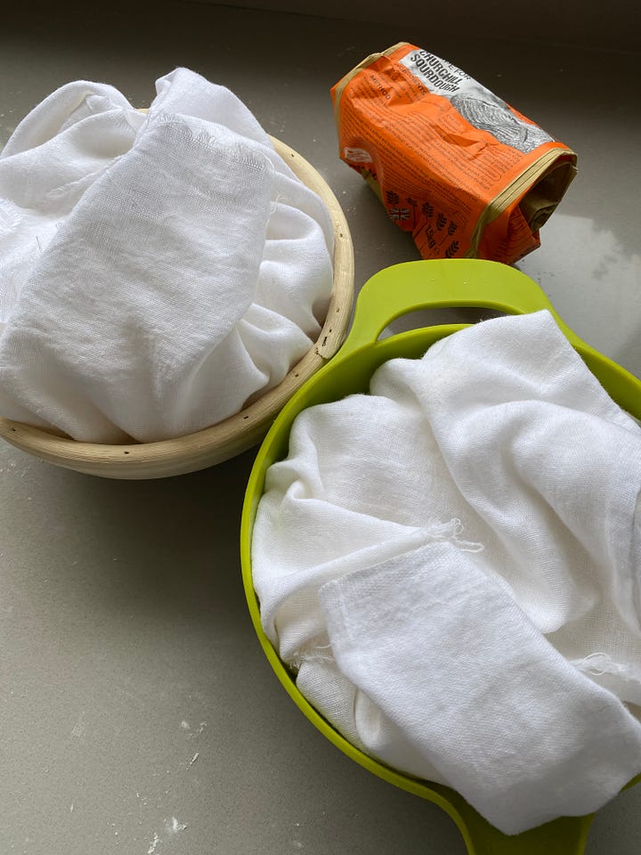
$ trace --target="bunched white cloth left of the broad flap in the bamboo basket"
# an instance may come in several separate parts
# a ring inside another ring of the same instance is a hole
[[[143,122],[113,86],[77,80],[15,129],[0,152],[0,332],[60,224]]]

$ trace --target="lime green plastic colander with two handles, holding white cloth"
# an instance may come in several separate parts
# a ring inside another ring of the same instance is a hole
[[[449,787],[411,778],[389,769],[351,745],[322,718],[296,688],[294,675],[280,661],[260,621],[252,582],[251,540],[256,508],[264,492],[267,469],[288,454],[289,431],[298,413],[317,403],[369,390],[369,380],[388,359],[418,359],[440,338],[467,324],[442,324],[402,332],[379,340],[395,318],[418,309],[474,306],[504,314],[548,309],[588,368],[620,406],[641,418],[641,381],[599,354],[570,330],[539,286],[524,273],[496,262],[477,259],[417,261],[376,273],[361,289],[352,330],[337,355],[288,401],[264,439],[247,485],[240,527],[240,558],[249,611],[264,653],[282,685],[312,724],[353,760],[395,786],[422,796],[447,811],[457,824],[469,855],[582,855],[592,816],[563,817],[521,835],[503,835]],[[637,776],[628,786],[641,780]]]

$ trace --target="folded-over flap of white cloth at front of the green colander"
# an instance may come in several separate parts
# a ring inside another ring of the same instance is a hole
[[[432,543],[328,582],[338,668],[504,833],[596,810],[641,769],[641,724],[475,557]]]

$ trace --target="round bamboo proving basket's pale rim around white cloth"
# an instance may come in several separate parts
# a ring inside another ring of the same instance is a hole
[[[155,443],[82,443],[21,422],[0,418],[0,436],[48,463],[86,475],[143,479],[184,475],[214,466],[259,443],[282,406],[338,350],[353,304],[353,245],[345,214],[328,183],[312,164],[272,137],[274,149],[307,187],[316,192],[334,225],[334,281],[321,335],[278,386],[229,419],[186,436]]]

